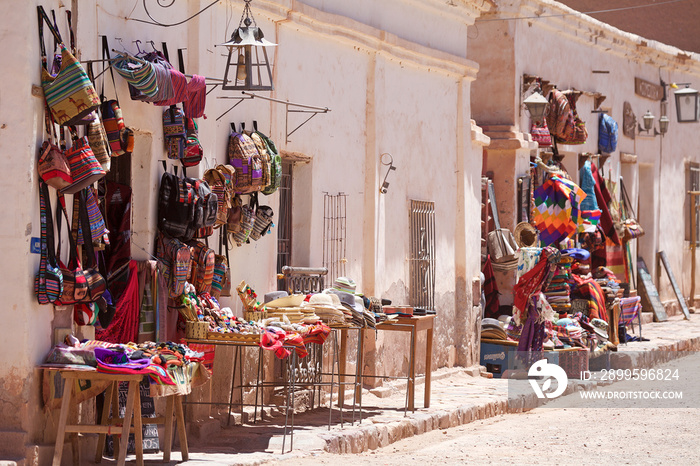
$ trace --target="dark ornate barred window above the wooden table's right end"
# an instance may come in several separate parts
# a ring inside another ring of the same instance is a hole
[[[409,304],[435,309],[435,203],[411,200]]]

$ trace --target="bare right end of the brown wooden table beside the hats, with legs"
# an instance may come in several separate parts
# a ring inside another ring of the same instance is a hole
[[[435,314],[426,316],[399,317],[396,322],[382,322],[377,324],[377,330],[393,332],[410,332],[411,343],[409,347],[410,360],[408,368],[408,409],[415,411],[416,388],[416,339],[418,332],[426,332],[425,341],[425,392],[423,394],[423,406],[430,407],[430,381],[433,362],[433,324]]]

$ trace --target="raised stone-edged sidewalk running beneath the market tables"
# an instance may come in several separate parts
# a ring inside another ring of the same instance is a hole
[[[650,341],[620,345],[618,353],[631,356],[642,353],[643,360],[635,360],[644,366],[651,366],[660,362],[661,351],[700,350],[700,317],[691,315],[690,320],[683,320],[682,316],[672,316],[667,322],[644,325],[642,334]],[[422,378],[417,382],[416,402],[417,406],[421,406]],[[569,381],[567,392],[594,386],[595,383],[591,382]],[[372,392],[382,396],[388,392],[389,396],[380,398]],[[404,416],[405,385],[392,386],[389,390],[364,391],[362,422],[348,422],[352,414],[347,406],[342,427],[340,413],[334,407],[330,429],[327,404],[311,412],[297,414],[294,448],[284,454],[284,416],[279,412],[254,425],[219,428],[217,424],[216,429],[189,426],[190,460],[180,464],[254,465],[298,461],[321,451],[359,453],[434,429],[455,427],[499,414],[527,411],[541,403],[532,394],[524,397],[518,407],[509,407],[507,392],[507,380],[482,377],[478,368],[440,369],[433,372],[430,408],[417,408],[415,412],[408,412]],[[289,447],[290,437],[287,436],[285,451]],[[146,458],[155,461],[162,456],[146,455]],[[179,458],[179,452],[174,452],[173,459]],[[178,462],[171,461],[170,464]]]

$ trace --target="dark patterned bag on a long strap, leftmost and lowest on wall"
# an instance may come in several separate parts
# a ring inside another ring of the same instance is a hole
[[[41,218],[41,260],[34,279],[34,293],[39,304],[51,304],[60,298],[63,291],[63,274],[56,261],[53,240],[51,200],[46,183],[39,181],[39,205]]]

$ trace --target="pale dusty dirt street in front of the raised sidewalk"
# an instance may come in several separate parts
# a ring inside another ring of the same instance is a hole
[[[317,454],[308,465],[442,464],[700,464],[700,356],[664,366],[679,369],[665,388],[683,391],[673,408],[653,401],[620,408],[614,400],[580,401],[574,393],[547,407],[464,426],[435,430],[386,448],[357,455]],[[639,382],[618,382],[606,390],[639,390]],[[581,407],[556,407],[581,406]],[[593,408],[592,406],[598,406]]]

